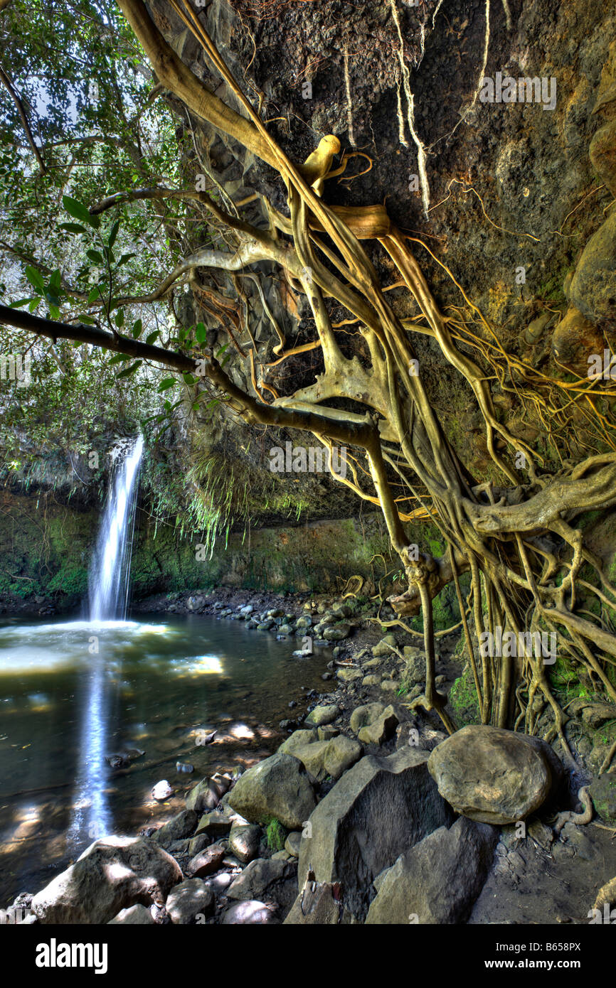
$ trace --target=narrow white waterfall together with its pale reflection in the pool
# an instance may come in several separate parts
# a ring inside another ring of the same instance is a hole
[[[88,682],[81,723],[81,767],[76,784],[70,844],[96,840],[109,833],[111,814],[107,800],[105,752],[109,721],[109,696],[104,659],[106,627],[125,620],[129,600],[134,497],[143,451],[139,436],[116,460],[101,531],[88,583]],[[124,455],[123,455],[124,453]]]

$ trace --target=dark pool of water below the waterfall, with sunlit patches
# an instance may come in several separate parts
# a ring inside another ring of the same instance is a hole
[[[0,907],[96,837],[167,819],[198,779],[275,750],[290,701],[303,709],[306,690],[326,689],[330,651],[303,659],[299,647],[213,617],[4,620]],[[174,789],[162,804],[151,796],[161,780]]]

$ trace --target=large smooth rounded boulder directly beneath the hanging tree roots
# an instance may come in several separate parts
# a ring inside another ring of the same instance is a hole
[[[523,820],[545,802],[555,758],[539,738],[471,725],[437,745],[428,768],[457,813],[502,824]]]

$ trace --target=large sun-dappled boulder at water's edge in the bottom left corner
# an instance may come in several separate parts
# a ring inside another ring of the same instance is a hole
[[[32,900],[40,923],[109,923],[140,902],[163,902],[182,880],[171,855],[147,837],[105,837]]]

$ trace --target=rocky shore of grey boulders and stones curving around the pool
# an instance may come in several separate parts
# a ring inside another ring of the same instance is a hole
[[[158,829],[96,841],[19,896],[7,922],[22,910],[41,924],[587,923],[616,898],[616,773],[592,780],[583,759],[566,770],[558,745],[511,731],[471,725],[448,739],[436,714],[410,708],[422,640],[387,626],[387,607],[219,588],[140,610],[333,645],[323,692],[299,698],[274,755],[198,782]],[[438,640],[448,694],[459,642]]]

